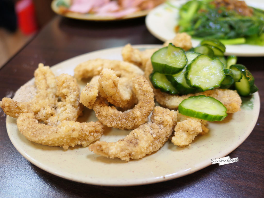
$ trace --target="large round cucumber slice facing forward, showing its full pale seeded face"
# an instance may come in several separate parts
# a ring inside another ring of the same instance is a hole
[[[220,87],[224,78],[224,66],[218,58],[211,59],[207,55],[199,55],[186,67],[187,84],[198,88],[199,91]]]

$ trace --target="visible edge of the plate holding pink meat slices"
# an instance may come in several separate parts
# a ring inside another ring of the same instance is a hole
[[[53,0],[51,2],[51,9],[57,13],[58,15],[62,15],[64,17],[68,18],[74,18],[74,19],[79,19],[79,20],[88,20],[88,21],[113,21],[113,20],[124,20],[124,19],[130,19],[130,18],[137,18],[137,17],[143,17],[146,16],[150,10],[142,10],[138,11],[135,13],[131,13],[127,16],[121,17],[121,18],[116,18],[112,16],[98,16],[94,14],[82,14],[82,13],[77,13],[77,12],[67,12],[67,13],[60,13],[58,6],[56,6],[58,0]]]

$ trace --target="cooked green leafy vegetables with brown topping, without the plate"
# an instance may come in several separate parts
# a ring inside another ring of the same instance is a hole
[[[241,1],[236,1],[241,7],[234,6],[235,1],[188,1],[179,10],[179,32],[219,39],[224,44],[264,45],[264,11],[243,6]]]

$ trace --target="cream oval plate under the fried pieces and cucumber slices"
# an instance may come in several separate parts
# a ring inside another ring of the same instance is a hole
[[[137,45],[139,49],[161,45]],[[54,65],[55,75],[73,75],[77,64],[88,59],[121,60],[121,49],[99,50],[71,58]],[[31,79],[30,82],[33,82]],[[29,83],[30,83],[29,82]],[[80,82],[83,87],[86,82]],[[15,148],[37,167],[69,180],[95,185],[129,186],[171,180],[198,171],[211,164],[211,159],[225,157],[237,148],[253,130],[260,110],[258,92],[243,100],[242,110],[228,115],[221,122],[210,122],[209,133],[197,136],[191,146],[179,148],[170,141],[155,153],[129,162],[96,155],[84,147],[63,150],[61,147],[39,145],[27,140],[17,129],[16,119],[7,116],[7,131]],[[79,121],[95,121],[93,111],[86,111]],[[107,130],[101,137],[105,141],[124,138],[129,130]],[[241,157],[241,156],[230,156]],[[237,162],[239,163],[239,162]],[[235,165],[234,165],[235,166]]]

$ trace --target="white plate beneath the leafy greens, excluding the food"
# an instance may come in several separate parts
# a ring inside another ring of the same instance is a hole
[[[186,2],[187,0],[170,1],[175,7],[180,7]],[[249,6],[264,9],[262,0],[245,0],[245,2]],[[176,36],[175,27],[178,21],[178,10],[173,6],[169,6],[167,3],[161,4],[150,11],[146,17],[146,26],[149,32],[159,40],[166,41]],[[197,46],[199,43],[199,40],[192,39],[193,46]],[[226,45],[225,55],[263,56],[264,47],[248,44]]]

